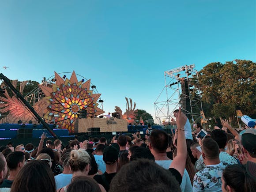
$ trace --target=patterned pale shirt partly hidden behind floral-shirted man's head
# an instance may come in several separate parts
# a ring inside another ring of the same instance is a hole
[[[237,164],[237,160],[234,157],[232,157],[230,154],[223,151],[219,153],[219,160],[223,163],[227,163],[228,165]],[[203,162],[203,157],[201,155],[200,158],[197,160],[196,169],[200,171],[204,167],[205,165]]]

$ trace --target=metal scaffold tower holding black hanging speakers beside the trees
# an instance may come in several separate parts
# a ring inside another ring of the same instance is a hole
[[[194,121],[203,117],[201,91],[195,65],[184,65],[164,72],[165,87],[154,102],[155,117],[158,124],[163,121],[170,122],[173,111],[179,106],[187,117]]]

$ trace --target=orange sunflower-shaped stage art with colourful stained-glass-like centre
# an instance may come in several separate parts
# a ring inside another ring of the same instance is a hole
[[[104,113],[97,103],[101,94],[93,94],[90,90],[90,79],[85,83],[78,81],[75,72],[65,81],[55,72],[55,79],[56,82],[51,87],[39,85],[50,103],[45,119],[50,118],[58,128],[68,129],[73,133],[79,110],[85,109],[89,118]]]

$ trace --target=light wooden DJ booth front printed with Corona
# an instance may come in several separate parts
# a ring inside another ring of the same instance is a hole
[[[100,128],[100,132],[127,132],[127,121],[117,118],[77,119],[75,132],[88,132],[88,128]]]

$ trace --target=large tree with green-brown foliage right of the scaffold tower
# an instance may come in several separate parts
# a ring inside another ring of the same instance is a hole
[[[207,64],[198,76],[202,100],[212,104],[211,114],[215,117],[233,119],[238,106],[244,114],[256,113],[256,63],[250,60],[215,62]]]

